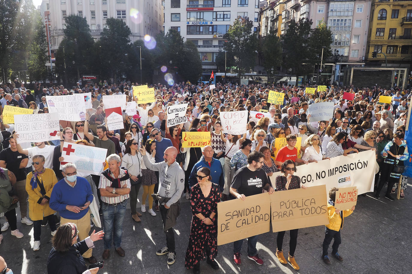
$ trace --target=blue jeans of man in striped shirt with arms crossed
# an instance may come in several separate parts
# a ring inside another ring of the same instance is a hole
[[[112,232],[115,249],[122,244],[122,226],[124,214],[126,213],[127,200],[118,205],[112,206],[102,203],[103,224],[104,224],[104,249],[110,249],[112,246]]]

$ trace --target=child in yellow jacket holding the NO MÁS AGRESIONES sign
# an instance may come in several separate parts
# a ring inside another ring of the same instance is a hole
[[[353,210],[355,210],[355,206],[353,206],[350,210],[337,210],[335,209],[335,196],[336,191],[339,189],[336,187],[332,187],[329,190],[329,198],[328,200],[328,215],[329,215],[329,224],[325,226],[325,239],[323,240],[323,253],[322,259],[327,265],[330,265],[330,260],[328,257],[328,248],[332,239],[335,239],[332,244],[332,256],[335,257],[339,261],[343,261],[342,256],[339,255],[337,249],[339,248],[339,244],[341,243],[340,238],[340,230],[343,226],[344,217],[349,216],[352,214]]]

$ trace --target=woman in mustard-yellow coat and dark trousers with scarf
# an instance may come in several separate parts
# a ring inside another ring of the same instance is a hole
[[[40,234],[43,217],[49,221],[52,236],[56,234],[56,222],[53,214],[56,211],[49,206],[50,196],[54,185],[57,183],[56,175],[50,168],[44,168],[44,156],[35,155],[32,158],[34,172],[30,172],[26,178],[26,191],[28,193],[28,208],[30,219],[34,222],[33,250],[40,249]]]

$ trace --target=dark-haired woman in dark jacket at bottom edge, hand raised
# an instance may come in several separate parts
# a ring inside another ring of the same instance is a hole
[[[96,274],[99,270],[94,267],[87,271],[87,265],[82,254],[93,248],[94,242],[103,239],[103,230],[96,233],[93,230],[86,239],[77,242],[79,230],[75,223],[62,224],[52,238],[52,250],[47,258],[48,274]]]

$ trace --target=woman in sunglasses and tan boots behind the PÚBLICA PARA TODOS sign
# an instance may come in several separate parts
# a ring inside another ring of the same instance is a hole
[[[289,189],[299,189],[301,188],[300,185],[300,177],[293,175],[296,171],[296,163],[292,160],[286,160],[281,166],[281,172],[283,175],[276,176],[276,191],[285,191]],[[306,189],[304,185],[302,185],[302,189]],[[288,262],[286,261],[285,257],[283,256],[283,237],[285,236],[286,231],[278,232],[276,238],[276,257],[278,258],[279,262],[286,265]],[[297,244],[297,232],[298,229],[290,230],[290,241],[289,241],[289,256],[288,261],[292,265],[295,270],[299,270],[299,265],[296,263],[295,260],[295,249]]]

